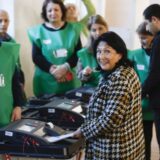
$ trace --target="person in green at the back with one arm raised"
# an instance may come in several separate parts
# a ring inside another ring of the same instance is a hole
[[[66,3],[66,20],[72,22],[77,29],[77,31],[82,31],[84,36],[88,36],[87,23],[90,16],[96,14],[96,9],[91,2],[91,0],[82,0],[84,6],[86,7],[87,14],[82,18],[78,19],[78,9],[74,3]]]

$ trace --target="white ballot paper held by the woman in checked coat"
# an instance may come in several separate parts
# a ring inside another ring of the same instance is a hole
[[[68,134],[64,134],[60,136],[46,136],[45,139],[48,142],[53,143],[53,142],[57,142],[57,141],[60,141],[60,140],[63,140],[69,137],[73,137],[73,136],[74,136],[74,133],[72,132],[72,133],[68,133]]]

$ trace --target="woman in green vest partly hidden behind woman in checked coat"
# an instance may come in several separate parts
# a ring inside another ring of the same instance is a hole
[[[93,54],[93,44],[101,34],[108,31],[108,25],[102,16],[95,15],[89,18],[87,27],[90,32],[88,44],[77,52],[79,57],[77,76],[82,81],[82,85],[96,87],[100,72],[96,70],[98,63]]]

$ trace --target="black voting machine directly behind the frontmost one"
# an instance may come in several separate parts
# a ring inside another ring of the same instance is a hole
[[[76,130],[84,122],[79,101],[62,97],[54,97],[51,102],[37,107],[26,107],[22,117],[52,122],[67,130]]]

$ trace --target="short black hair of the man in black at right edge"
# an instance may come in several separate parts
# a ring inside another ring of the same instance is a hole
[[[151,21],[152,16],[160,19],[160,5],[152,4],[148,6],[143,12],[144,18]]]

